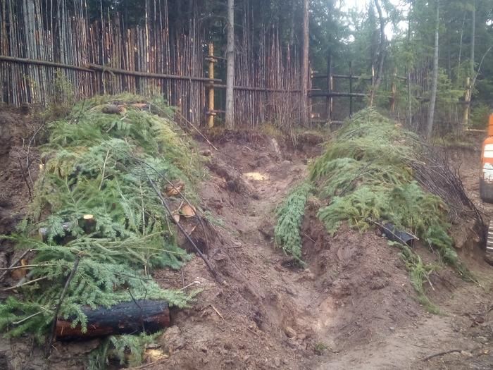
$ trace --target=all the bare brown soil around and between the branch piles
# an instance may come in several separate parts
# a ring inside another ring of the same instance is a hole
[[[17,128],[19,119],[15,116],[9,125]],[[0,232],[13,228],[18,218],[13,215],[22,213],[27,199],[17,159],[25,161],[25,146],[12,139],[17,131],[11,131],[0,132],[1,140],[13,142],[0,153]],[[30,137],[32,131],[22,135]],[[216,137],[218,151],[201,144],[201,149],[211,150],[211,175],[200,190],[201,207],[217,221],[206,252],[220,279],[215,280],[199,258],[182,271],[154,273],[167,288],[192,284],[187,289],[201,292],[191,308],[171,312],[172,326],[158,340],[161,347],[149,349],[140,368],[493,367],[493,268],[482,260],[479,238],[469,225],[454,228],[462,236],[459,253],[480,284],[467,283],[446,267],[432,274],[428,296],[442,310],[440,315],[417,302],[395,247],[373,231],[360,234],[342,228],[333,238],[328,236],[311,210],[313,201],[308,202],[303,225],[306,267],[300,269],[275,248],[275,208],[306,176],[321,140],[301,135],[294,149],[265,135],[240,133]],[[477,144],[479,148],[480,139]],[[489,221],[493,206],[482,204],[478,195],[479,152],[448,152],[455,164],[462,164],[468,195]],[[424,247],[416,249],[425,261],[435,260]],[[68,369],[93,344],[70,349],[56,343],[49,368]],[[1,340],[0,368],[5,359],[15,369],[42,369],[33,348],[25,340]],[[439,354],[447,351],[453,352]],[[439,355],[425,359],[433,354]]]

